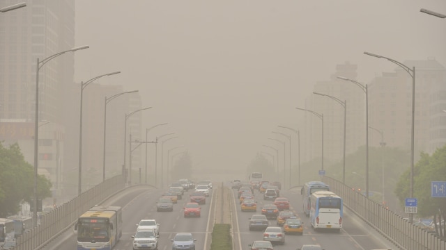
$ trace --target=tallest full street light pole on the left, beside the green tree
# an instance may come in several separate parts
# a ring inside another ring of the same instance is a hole
[[[66,51],[62,51],[59,53],[55,53],[52,56],[49,56],[43,60],[39,60],[39,58],[37,58],[37,63],[36,63],[36,114],[35,114],[35,120],[34,120],[34,201],[33,201],[33,205],[34,205],[34,209],[33,209],[33,223],[34,226],[37,226],[37,179],[38,179],[38,174],[37,174],[37,169],[38,169],[38,120],[39,120],[39,70],[41,67],[43,67],[43,65],[45,65],[46,63],[49,62],[49,60],[52,60],[54,58],[56,58],[57,56],[61,56],[64,53],[70,52],[70,51],[78,51],[80,49],[88,49],[89,46],[82,46],[82,47],[75,47],[72,49],[68,49]]]

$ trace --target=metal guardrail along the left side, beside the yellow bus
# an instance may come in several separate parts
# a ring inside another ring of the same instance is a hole
[[[17,238],[17,250],[37,250],[53,240],[55,235],[68,230],[82,213],[124,188],[122,175],[114,176],[64,203],[40,219],[40,225],[33,227]]]

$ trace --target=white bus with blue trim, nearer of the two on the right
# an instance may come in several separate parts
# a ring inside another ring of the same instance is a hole
[[[313,228],[342,228],[342,198],[330,191],[316,191],[312,194],[312,208],[309,219]]]

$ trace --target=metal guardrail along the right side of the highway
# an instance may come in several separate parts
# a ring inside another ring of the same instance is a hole
[[[380,203],[367,199],[360,192],[354,191],[351,187],[334,178],[325,176],[323,181],[330,185],[333,192],[342,197],[344,206],[350,208],[353,213],[361,217],[364,222],[367,222],[400,249],[446,249],[446,242],[438,238],[437,235],[410,224],[403,217],[386,209]]]

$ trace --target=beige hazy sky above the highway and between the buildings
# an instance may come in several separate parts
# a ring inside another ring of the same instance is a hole
[[[317,81],[337,64],[368,83],[403,62],[446,67],[445,0],[76,0],[75,81],[139,90],[143,128],[180,138],[197,167],[245,167],[279,124],[297,124]],[[274,145],[274,144],[272,144]],[[178,149],[179,151],[179,149]]]

